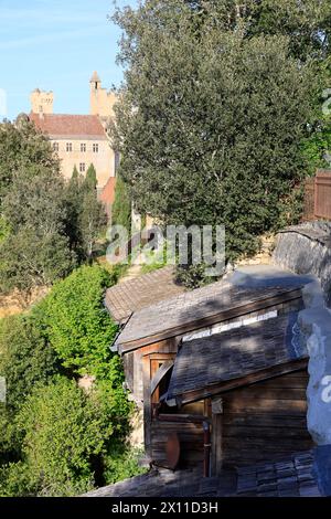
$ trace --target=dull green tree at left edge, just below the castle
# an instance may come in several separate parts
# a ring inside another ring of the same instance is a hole
[[[51,285],[75,265],[66,235],[66,186],[50,142],[30,123],[4,124],[0,131],[0,218],[6,222],[0,285],[29,296],[35,286]]]

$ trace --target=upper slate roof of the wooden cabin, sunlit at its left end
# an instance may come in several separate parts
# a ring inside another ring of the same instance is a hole
[[[298,287],[246,288],[221,280],[136,311],[116,345],[129,351],[299,297]]]

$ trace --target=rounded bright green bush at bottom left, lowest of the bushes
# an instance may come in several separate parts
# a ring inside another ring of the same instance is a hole
[[[33,494],[68,496],[94,487],[97,460],[114,433],[97,399],[60,378],[26,399],[17,422]]]

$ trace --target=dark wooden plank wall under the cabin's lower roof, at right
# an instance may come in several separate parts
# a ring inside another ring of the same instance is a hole
[[[307,385],[305,370],[224,394],[223,466],[244,466],[311,448]]]

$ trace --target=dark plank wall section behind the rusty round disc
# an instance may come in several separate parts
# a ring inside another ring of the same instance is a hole
[[[180,467],[203,462],[202,423],[178,423],[153,420],[151,424],[151,458],[167,466],[166,445],[170,434],[177,433],[181,445]]]

